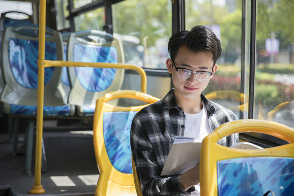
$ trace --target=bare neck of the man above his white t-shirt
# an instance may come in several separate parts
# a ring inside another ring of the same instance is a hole
[[[201,112],[203,108],[201,96],[196,98],[185,98],[177,91],[173,92],[175,101],[179,107],[181,107],[186,114],[197,114]]]

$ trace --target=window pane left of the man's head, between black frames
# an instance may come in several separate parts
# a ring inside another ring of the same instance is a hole
[[[123,36],[125,62],[166,69],[172,35],[170,0],[125,0],[113,4],[113,31]]]

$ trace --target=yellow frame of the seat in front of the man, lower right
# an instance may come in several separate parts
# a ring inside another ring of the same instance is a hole
[[[265,133],[290,142],[287,145],[257,150],[224,147],[217,142],[239,132]],[[241,157],[292,157],[294,158],[294,130],[290,127],[264,120],[239,120],[222,124],[202,141],[200,158],[201,196],[217,196],[217,162]],[[238,182],[236,182],[238,183]]]

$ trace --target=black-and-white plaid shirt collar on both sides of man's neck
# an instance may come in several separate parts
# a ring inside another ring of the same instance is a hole
[[[178,107],[178,105],[176,104],[176,101],[175,101],[175,98],[173,96],[173,91],[174,91],[174,88],[172,88],[168,94],[162,99],[162,105],[163,105],[163,108],[165,109],[171,109],[171,108],[175,108],[175,107]],[[204,102],[205,106],[206,106],[206,109],[207,111],[210,113],[210,114],[214,114],[215,111],[216,111],[216,108],[214,107],[213,103],[208,100],[204,95],[201,94],[201,100]]]

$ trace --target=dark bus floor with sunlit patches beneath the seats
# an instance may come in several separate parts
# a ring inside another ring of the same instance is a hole
[[[44,131],[47,171],[42,172],[41,196],[94,196],[99,172],[93,148],[93,131]],[[25,174],[25,133],[19,134],[18,155],[7,132],[0,132],[0,196],[32,196],[32,174]]]

